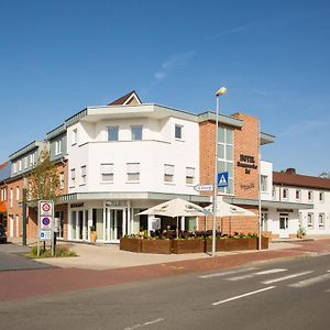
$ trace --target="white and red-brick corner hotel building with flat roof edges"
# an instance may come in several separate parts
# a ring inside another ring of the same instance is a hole
[[[243,113],[219,116],[218,130],[218,170],[229,172],[229,186],[219,194],[256,216],[219,218],[217,229],[256,232],[260,196],[263,211],[287,206],[272,200],[272,163],[258,161],[261,146],[275,138],[261,132],[257,118]],[[58,237],[89,241],[95,230],[98,242],[118,242],[124,234],[153,229],[157,222],[153,217],[136,216],[146,208],[176,197],[209,205],[211,194],[194,187],[213,184],[215,133],[213,112],[195,114],[142,103],[134,91],[108,106],[75,113],[42,142],[57,164],[61,182],[55,208]],[[12,173],[7,190],[9,200],[18,201],[16,209],[9,206],[8,213],[13,217],[8,226],[10,235],[21,232],[22,183],[18,182],[31,170],[30,161],[32,165],[37,160],[40,150],[34,142],[10,156]],[[36,237],[35,209],[29,208],[29,212],[28,234]],[[162,219],[162,229],[175,227],[176,219]],[[183,218],[179,227],[204,230],[211,223],[204,217]],[[270,231],[268,227],[264,230]]]

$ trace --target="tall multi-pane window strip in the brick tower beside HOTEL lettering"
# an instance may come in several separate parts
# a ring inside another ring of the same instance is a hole
[[[229,186],[219,188],[219,193],[233,194],[233,131],[229,128],[218,128],[218,172],[229,173]]]

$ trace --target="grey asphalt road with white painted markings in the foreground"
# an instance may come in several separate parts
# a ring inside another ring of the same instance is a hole
[[[7,329],[34,330],[310,330],[329,329],[329,307],[323,255],[12,300],[0,304],[0,318]]]

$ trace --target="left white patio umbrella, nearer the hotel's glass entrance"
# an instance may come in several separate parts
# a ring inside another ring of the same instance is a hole
[[[178,237],[178,217],[198,217],[205,216],[204,208],[187,201],[182,198],[175,198],[160,205],[156,205],[147,210],[144,210],[136,216],[154,215],[176,218],[176,235]]]

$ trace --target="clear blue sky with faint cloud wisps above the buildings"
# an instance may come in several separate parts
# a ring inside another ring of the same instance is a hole
[[[274,169],[330,170],[329,1],[0,0],[0,162],[87,106],[260,117]]]

